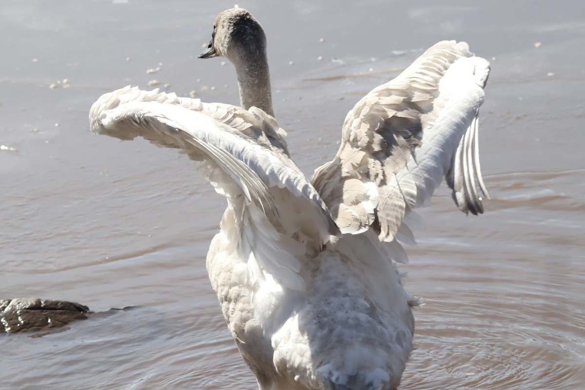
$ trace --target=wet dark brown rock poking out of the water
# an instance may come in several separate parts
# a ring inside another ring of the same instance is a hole
[[[87,319],[87,306],[52,299],[16,298],[0,300],[0,332],[36,332]]]

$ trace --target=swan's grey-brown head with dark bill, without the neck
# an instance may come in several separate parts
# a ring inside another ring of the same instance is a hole
[[[225,57],[233,64],[266,57],[266,35],[260,23],[243,8],[232,8],[215,18],[214,32],[199,58]]]

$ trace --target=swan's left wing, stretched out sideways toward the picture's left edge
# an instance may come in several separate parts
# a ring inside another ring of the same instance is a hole
[[[259,109],[126,87],[92,105],[90,124],[94,133],[141,136],[201,161],[198,170],[228,199],[239,255],[249,259],[254,278],[268,273],[302,290],[297,257],[338,233],[325,203],[288,158],[284,132]]]

